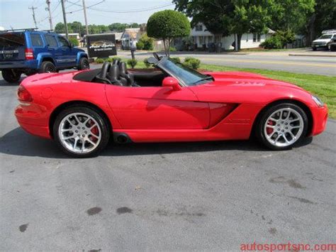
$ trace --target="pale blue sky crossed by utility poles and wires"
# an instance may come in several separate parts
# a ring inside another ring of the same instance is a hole
[[[35,18],[38,28],[49,29],[48,13],[45,10],[46,0],[0,0],[0,26],[11,28],[33,28],[32,10],[35,9]],[[85,0],[86,16],[89,24],[110,23],[147,23],[152,13],[164,9],[174,9],[172,0]],[[99,4],[101,2],[101,4]],[[52,23],[63,22],[62,7],[60,0],[50,0],[52,11]],[[94,10],[95,9],[95,10]],[[150,10],[148,10],[150,9]],[[82,0],[65,0],[65,10],[67,22],[79,21],[84,24],[84,13],[82,10]]]

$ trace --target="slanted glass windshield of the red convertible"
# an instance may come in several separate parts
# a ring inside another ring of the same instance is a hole
[[[177,77],[184,82],[187,86],[195,86],[198,84],[204,84],[212,81],[213,77],[208,75],[202,75],[201,73],[192,70],[189,67],[182,65],[181,63],[174,63],[169,59],[160,62],[160,67],[167,71],[173,77]]]

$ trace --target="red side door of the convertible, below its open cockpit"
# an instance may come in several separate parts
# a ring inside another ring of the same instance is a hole
[[[189,87],[120,87],[106,85],[113,114],[125,129],[208,128],[209,107]]]

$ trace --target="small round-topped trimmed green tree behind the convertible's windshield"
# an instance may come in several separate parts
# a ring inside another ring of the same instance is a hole
[[[166,55],[170,55],[170,45],[174,38],[181,38],[190,34],[190,23],[183,13],[165,10],[158,11],[147,22],[147,35],[162,39]]]

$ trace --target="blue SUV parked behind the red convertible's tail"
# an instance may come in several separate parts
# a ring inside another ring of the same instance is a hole
[[[84,50],[57,33],[25,30],[0,32],[0,70],[6,82],[18,82],[21,74],[77,68],[89,69]]]

